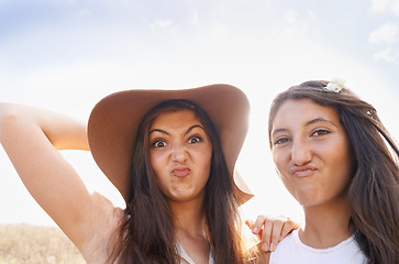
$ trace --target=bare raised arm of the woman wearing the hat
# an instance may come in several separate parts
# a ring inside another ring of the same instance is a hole
[[[57,150],[88,150],[86,125],[32,107],[0,103],[0,142],[23,184],[79,250],[95,232],[101,199]]]

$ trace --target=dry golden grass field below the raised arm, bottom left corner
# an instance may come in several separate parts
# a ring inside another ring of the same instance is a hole
[[[58,228],[0,224],[0,264],[84,264]]]

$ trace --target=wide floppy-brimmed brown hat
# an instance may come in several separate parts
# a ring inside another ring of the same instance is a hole
[[[124,200],[129,197],[138,124],[152,108],[170,99],[190,100],[209,114],[219,132],[228,167],[234,174],[239,204],[251,199],[250,188],[234,169],[248,130],[248,99],[234,86],[210,85],[179,90],[124,90],[104,97],[95,106],[88,123],[90,151]]]

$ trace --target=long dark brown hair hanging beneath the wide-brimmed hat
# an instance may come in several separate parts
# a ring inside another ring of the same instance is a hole
[[[203,211],[207,233],[215,263],[243,263],[240,217],[221,141],[208,114],[187,100],[168,100],[153,108],[142,120],[134,143],[126,219],[118,233],[118,263],[179,263],[169,208],[156,184],[148,157],[148,131],[153,121],[165,112],[182,109],[200,120],[212,143],[211,172],[206,185]]]

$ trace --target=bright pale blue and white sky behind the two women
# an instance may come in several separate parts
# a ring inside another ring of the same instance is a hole
[[[252,105],[237,169],[256,194],[244,218],[301,220],[268,148],[275,95],[340,77],[399,138],[399,0],[0,0],[0,101],[87,121],[133,88],[241,88]],[[90,190],[123,205],[90,153],[63,151]],[[54,226],[0,147],[0,223]]]

